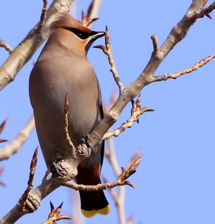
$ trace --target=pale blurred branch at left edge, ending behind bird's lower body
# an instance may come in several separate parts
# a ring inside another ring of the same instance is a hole
[[[10,158],[11,155],[18,152],[30,136],[34,126],[34,117],[32,116],[19,134],[10,143],[0,149],[0,161]]]

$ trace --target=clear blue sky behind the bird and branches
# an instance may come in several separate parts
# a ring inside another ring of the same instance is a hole
[[[76,4],[76,18],[86,10],[90,1]],[[212,1],[209,1],[212,2]],[[104,30],[108,25],[113,55],[120,77],[125,85],[131,83],[144,69],[152,52],[150,36],[156,34],[161,44],[172,26],[184,15],[191,1],[103,1],[100,20],[94,30]],[[15,47],[40,17],[42,1],[3,1],[0,13],[0,39]],[[212,14],[213,17],[213,14]],[[203,18],[191,27],[187,37],[167,56],[156,75],[176,72],[215,53],[214,19]],[[104,40],[97,41],[102,44]],[[40,49],[41,50],[41,49]],[[9,118],[1,137],[12,139],[24,126],[32,108],[28,97],[28,78],[40,52],[33,56],[19,72],[16,80],[0,94],[0,121]],[[0,49],[0,62],[8,53]],[[91,49],[93,63],[105,102],[109,102],[116,85],[109,72],[107,58],[97,49]],[[142,91],[142,106],[155,112],[144,114],[140,124],[135,124],[119,138],[115,146],[121,166],[137,149],[144,159],[130,180],[136,188],[126,187],[126,214],[134,216],[135,223],[179,224],[215,222],[215,103],[214,71],[212,61],[196,72],[177,80],[154,83]],[[130,114],[130,105],[122,113],[115,127]],[[25,189],[29,163],[38,145],[33,133],[20,152],[8,161],[1,179],[6,187],[0,189],[0,215],[3,216],[17,202]],[[35,178],[38,185],[45,172],[42,154]],[[114,179],[109,164],[102,170],[108,179]],[[84,223],[118,223],[114,203],[108,216],[97,216]],[[34,213],[20,219],[18,224],[42,223],[49,212],[49,201],[56,206],[64,201],[62,213],[71,215],[71,191],[61,188],[42,201]],[[67,221],[61,221],[67,223]]]

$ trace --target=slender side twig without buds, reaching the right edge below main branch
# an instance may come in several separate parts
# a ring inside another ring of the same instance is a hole
[[[182,75],[191,73],[191,72],[201,68],[202,66],[204,66],[208,62],[210,62],[213,58],[215,58],[215,55],[208,56],[207,58],[204,58],[201,61],[199,61],[198,63],[196,63],[195,65],[193,65],[192,67],[186,68],[182,71],[175,72],[175,73],[167,73],[162,76],[155,76],[154,81],[157,82],[157,81],[166,81],[167,79],[177,79],[178,77],[180,77]]]

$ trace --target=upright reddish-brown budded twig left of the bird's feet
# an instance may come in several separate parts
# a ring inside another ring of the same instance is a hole
[[[28,186],[27,186],[25,192],[23,193],[23,195],[21,196],[20,201],[19,201],[20,209],[23,210],[23,211],[25,209],[25,205],[26,205],[28,195],[29,195],[31,189],[33,188],[34,174],[35,174],[36,166],[37,166],[37,156],[38,156],[38,147],[34,151],[34,154],[33,154],[32,160],[31,160]]]

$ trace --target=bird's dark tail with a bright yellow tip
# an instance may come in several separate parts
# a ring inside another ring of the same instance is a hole
[[[76,181],[78,184],[95,185],[101,183],[99,174],[95,175],[97,168],[79,168]],[[80,191],[81,211],[85,217],[93,217],[96,214],[107,215],[110,205],[105,197],[103,190],[85,192]]]

